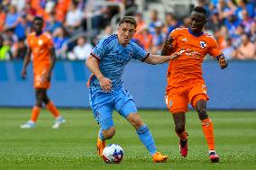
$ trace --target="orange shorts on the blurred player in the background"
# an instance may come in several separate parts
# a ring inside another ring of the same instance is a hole
[[[34,88],[49,88],[50,80],[46,79],[46,75],[50,71],[50,67],[36,67],[34,68]]]

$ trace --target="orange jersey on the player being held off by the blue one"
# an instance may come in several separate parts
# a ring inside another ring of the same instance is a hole
[[[216,40],[206,32],[195,36],[187,28],[171,31],[169,36],[173,39],[173,52],[180,52],[181,56],[169,61],[167,90],[192,81],[204,82],[202,63],[206,54],[216,58],[223,53]]]

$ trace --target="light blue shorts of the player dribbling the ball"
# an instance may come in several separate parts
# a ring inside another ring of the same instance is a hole
[[[130,113],[137,112],[133,96],[127,90],[120,87],[114,92],[90,92],[90,105],[94,112],[94,117],[103,130],[114,126],[113,111],[119,112],[125,119]]]

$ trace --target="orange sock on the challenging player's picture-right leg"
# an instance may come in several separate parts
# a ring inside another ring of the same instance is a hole
[[[209,150],[215,150],[215,135],[214,135],[214,124],[211,119],[206,119],[202,122],[202,129],[206,136],[206,141]]]

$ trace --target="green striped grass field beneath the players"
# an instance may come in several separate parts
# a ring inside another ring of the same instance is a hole
[[[107,165],[96,156],[98,126],[89,110],[60,110],[67,122],[52,130],[49,112],[41,112],[36,129],[19,127],[30,118],[30,109],[0,109],[0,169],[256,169],[256,112],[209,112],[215,123],[216,150],[221,157],[212,164],[196,112],[187,113],[188,156],[178,153],[178,138],[166,111],[141,111],[165,164],[154,164],[131,125],[114,112],[116,133],[108,141],[123,147],[119,165]]]

